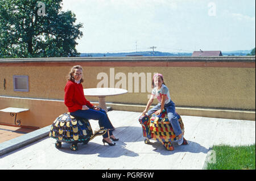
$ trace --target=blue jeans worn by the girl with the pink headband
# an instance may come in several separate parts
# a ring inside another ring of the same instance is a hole
[[[147,115],[151,116],[152,113],[154,113],[157,110],[160,110],[160,108],[161,108],[161,103],[158,103],[155,107],[153,107],[151,110],[149,110],[147,112]],[[164,108],[166,109],[168,119],[169,119],[169,121],[172,125],[172,128],[174,129],[175,135],[176,136],[180,135],[182,133],[182,131],[180,129],[180,124],[179,124],[179,121],[177,119],[177,115],[175,113],[175,104],[174,104],[174,102],[172,102],[172,100],[171,100],[169,103],[164,104]]]

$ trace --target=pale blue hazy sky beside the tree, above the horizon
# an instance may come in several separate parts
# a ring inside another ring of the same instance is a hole
[[[250,50],[254,0],[63,0],[84,36],[80,53]]]

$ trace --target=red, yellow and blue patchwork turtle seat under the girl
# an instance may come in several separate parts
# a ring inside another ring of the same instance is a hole
[[[184,134],[184,124],[178,113],[176,113],[177,119],[180,124],[181,131]],[[152,113],[151,116],[142,115],[139,117],[139,123],[142,125],[143,137],[146,137],[144,140],[145,144],[150,142],[150,139],[154,139],[156,141],[160,141],[164,148],[167,150],[174,150],[174,146],[172,146],[172,141],[177,141],[178,138],[172,129],[172,125],[168,120],[166,110],[163,110],[160,115],[156,115]],[[183,144],[187,145],[188,142],[183,138]]]

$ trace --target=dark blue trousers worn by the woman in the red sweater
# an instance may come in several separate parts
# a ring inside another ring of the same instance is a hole
[[[93,119],[93,120],[98,120],[98,125],[102,129],[109,129],[109,135],[108,132],[103,134],[102,136],[104,138],[112,136],[112,129],[114,129],[113,125],[111,124],[108,115],[106,114],[105,110],[100,110],[96,111],[93,109],[89,110],[77,110],[75,112],[71,112],[70,115],[72,116],[77,116],[77,117],[82,117],[85,119]]]

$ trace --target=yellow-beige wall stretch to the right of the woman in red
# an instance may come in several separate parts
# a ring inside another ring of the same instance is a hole
[[[96,87],[98,67],[90,67],[86,87]],[[110,68],[101,67],[100,71],[109,75]],[[255,69],[251,68],[184,68],[184,67],[146,67],[114,68],[115,73],[162,73],[164,82],[170,90],[176,106],[222,107],[237,109],[255,109]],[[151,78],[150,78],[151,80]],[[117,83],[119,80],[115,80]],[[151,81],[150,81],[151,83]],[[139,82],[141,85],[141,82]],[[150,92],[131,92],[126,95],[109,96],[107,102],[146,104]],[[93,98],[90,98],[93,99]]]

